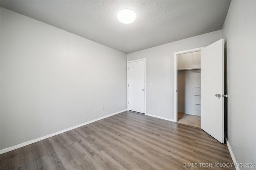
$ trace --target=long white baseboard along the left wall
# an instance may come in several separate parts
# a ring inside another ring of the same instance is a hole
[[[70,130],[72,130],[72,129],[76,129],[76,128],[78,128],[78,127],[87,125],[87,124],[92,123],[92,122],[94,122],[94,121],[98,121],[98,120],[104,119],[104,118],[106,118],[106,117],[110,117],[110,116],[112,116],[112,115],[116,115],[116,114],[118,114],[118,113],[122,113],[122,112],[124,112],[124,111],[127,111],[127,109],[122,110],[122,111],[118,111],[118,112],[116,112],[116,113],[112,113],[112,114],[109,114],[109,115],[106,115],[106,116],[103,116],[103,117],[100,117],[100,118],[98,118],[98,119],[94,119],[94,120],[91,120],[91,121],[82,123],[82,124],[80,124],[80,125],[76,125],[76,126],[73,126],[73,127],[67,128],[67,129],[64,129],[64,130],[62,130],[62,131],[58,131],[58,132],[52,133],[52,134],[50,134],[50,135],[46,135],[46,136],[43,136],[43,137],[40,137],[40,138],[37,138],[37,139],[33,139],[33,140],[31,140],[31,141],[27,141],[27,142],[24,142],[24,143],[20,143],[20,144],[18,144],[18,145],[14,145],[14,146],[12,146],[12,147],[8,147],[8,148],[5,148],[5,149],[2,149],[2,150],[0,150],[0,154],[9,152],[9,151],[14,150],[14,149],[18,149],[18,148],[24,147],[24,146],[26,146],[26,145],[30,145],[30,144],[32,144],[32,143],[36,143],[36,142],[38,142],[38,141],[42,141],[42,140],[47,139],[47,138],[49,138],[49,137],[53,137],[53,136],[55,136],[55,135],[59,135],[60,133],[64,133],[64,132],[66,132],[66,131],[70,131]]]

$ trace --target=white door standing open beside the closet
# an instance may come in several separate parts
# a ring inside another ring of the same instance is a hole
[[[224,143],[224,39],[201,50],[201,129]]]

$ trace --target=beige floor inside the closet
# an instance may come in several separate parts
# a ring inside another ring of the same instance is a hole
[[[178,112],[177,123],[182,123],[185,125],[190,125],[194,127],[201,127],[201,117],[196,115],[188,115],[182,112]]]

